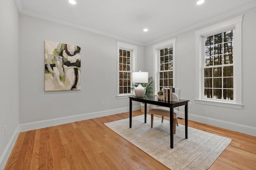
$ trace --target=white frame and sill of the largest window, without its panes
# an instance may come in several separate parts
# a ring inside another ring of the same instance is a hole
[[[242,108],[242,18],[243,15],[195,31],[196,39],[196,103]],[[234,100],[204,97],[204,37],[233,29]]]

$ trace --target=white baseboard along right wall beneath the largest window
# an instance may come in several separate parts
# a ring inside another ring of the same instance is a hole
[[[182,117],[185,117],[184,112],[180,112],[180,114],[182,115]],[[223,121],[219,119],[213,119],[210,117],[204,117],[204,116],[194,115],[190,113],[188,114],[188,119],[192,121],[200,122],[200,123],[205,123],[207,125],[220,127],[223,129],[228,129],[231,131],[244,133],[246,135],[256,136],[256,127],[241,125],[238,123]]]

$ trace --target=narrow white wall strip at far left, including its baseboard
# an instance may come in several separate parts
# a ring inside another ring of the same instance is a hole
[[[14,0],[0,0],[0,169],[19,133],[19,31]],[[4,127],[6,126],[6,135]]]

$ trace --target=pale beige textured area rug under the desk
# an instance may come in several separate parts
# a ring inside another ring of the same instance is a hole
[[[170,148],[170,122],[154,117],[150,128],[150,115],[144,123],[144,115],[109,123],[107,127],[130,141],[171,170],[206,170],[229,145],[231,139],[188,127],[188,139],[185,139],[185,127],[176,127],[174,148]]]

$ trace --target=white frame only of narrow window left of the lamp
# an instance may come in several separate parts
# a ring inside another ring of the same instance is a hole
[[[133,96],[134,95],[134,90],[131,90],[130,93],[126,93],[126,94],[119,94],[119,49],[122,50],[127,50],[130,51],[130,72],[132,74],[132,72],[134,72],[135,70],[135,59],[137,56],[137,46],[136,45],[132,45],[132,44],[128,44],[128,43],[124,43],[121,41],[116,41],[116,45],[117,45],[117,76],[116,76],[116,80],[117,80],[117,91],[116,91],[116,97],[117,99],[122,99],[122,98],[128,98],[129,96]],[[132,78],[131,78],[132,80]],[[132,81],[131,81],[131,88],[132,88]]]

